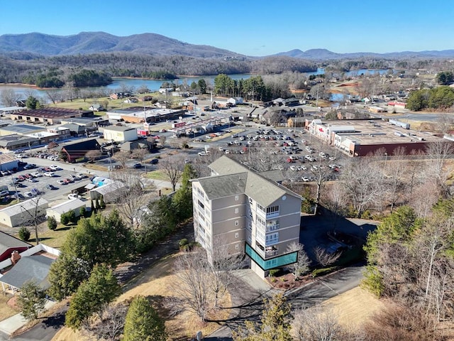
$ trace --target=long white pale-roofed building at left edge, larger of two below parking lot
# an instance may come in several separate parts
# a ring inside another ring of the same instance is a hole
[[[29,200],[18,202],[16,205],[2,208],[0,210],[0,224],[9,227],[31,225],[36,217],[45,215],[45,210],[48,207],[48,200],[43,197],[32,197]]]

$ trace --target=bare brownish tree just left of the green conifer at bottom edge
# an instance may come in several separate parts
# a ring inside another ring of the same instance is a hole
[[[120,340],[125,324],[128,306],[124,303],[109,304],[82,325],[82,334],[87,337],[95,337],[96,340]]]

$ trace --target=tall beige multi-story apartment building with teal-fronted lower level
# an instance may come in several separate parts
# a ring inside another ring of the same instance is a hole
[[[192,180],[196,242],[209,256],[218,241],[245,252],[262,278],[296,262],[287,247],[299,242],[301,196],[227,156],[209,168],[211,176]]]

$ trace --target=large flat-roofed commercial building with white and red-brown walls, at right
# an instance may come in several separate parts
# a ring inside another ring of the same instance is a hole
[[[397,120],[306,119],[304,129],[323,143],[334,146],[349,156],[367,156],[379,150],[392,155],[397,148],[406,155],[425,153],[428,146],[443,141],[426,131],[411,130],[409,123]]]

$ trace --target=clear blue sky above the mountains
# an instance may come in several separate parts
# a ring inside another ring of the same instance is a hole
[[[0,35],[159,33],[245,55],[454,49],[451,0],[4,0]]]

